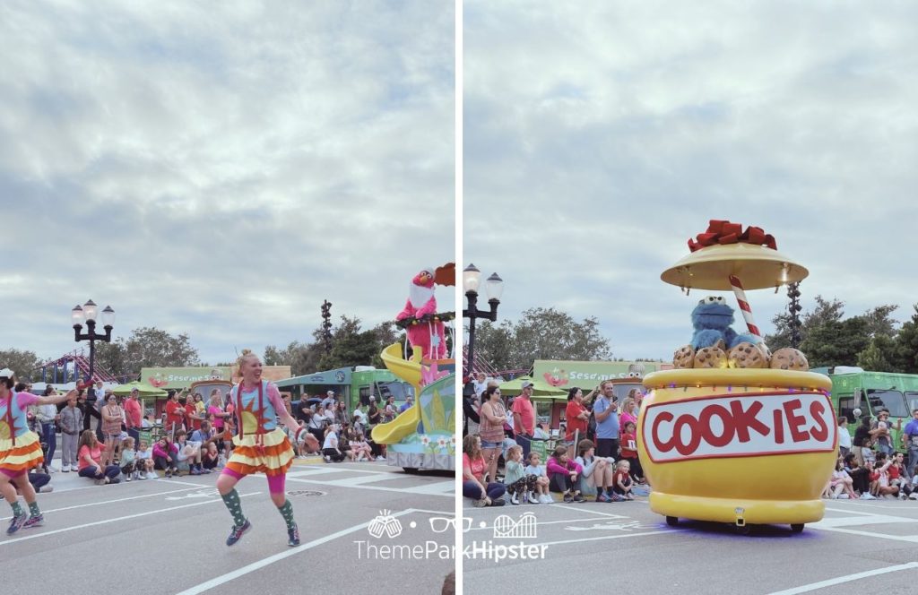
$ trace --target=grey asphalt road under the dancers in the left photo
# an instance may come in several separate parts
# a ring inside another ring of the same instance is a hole
[[[453,528],[434,533],[430,522],[454,516],[453,479],[442,475],[297,461],[286,485],[300,528],[296,548],[286,544],[261,476],[237,486],[253,526],[232,547],[224,543],[231,519],[216,474],[114,486],[74,473],[52,477],[54,491],[39,494],[44,526],[0,533],[3,592],[403,593],[409,573],[412,592],[439,593],[454,565]],[[0,506],[6,529],[11,513]],[[377,519],[381,511],[391,518]]]

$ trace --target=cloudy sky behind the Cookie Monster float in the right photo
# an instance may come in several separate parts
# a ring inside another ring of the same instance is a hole
[[[463,265],[504,278],[501,320],[595,316],[615,356],[670,359],[717,292],[660,274],[730,219],[809,268],[804,310],[907,320],[915,72],[909,3],[466,2]],[[785,291],[748,297],[773,331]]]

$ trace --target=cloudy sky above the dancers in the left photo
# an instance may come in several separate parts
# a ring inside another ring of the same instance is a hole
[[[211,364],[311,341],[325,298],[394,319],[454,258],[453,26],[423,0],[4,3],[0,349],[72,350],[89,298]]]

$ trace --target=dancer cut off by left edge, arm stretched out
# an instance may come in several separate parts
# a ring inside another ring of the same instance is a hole
[[[57,405],[76,395],[71,390],[65,395],[39,397],[28,392],[14,393],[14,373],[9,368],[0,370],[0,493],[13,509],[13,519],[6,529],[7,535],[22,527],[38,527],[44,522],[35,489],[28,483],[28,470],[44,461],[39,435],[28,430],[26,408],[29,405]],[[19,488],[28,504],[28,514],[17,499]]]

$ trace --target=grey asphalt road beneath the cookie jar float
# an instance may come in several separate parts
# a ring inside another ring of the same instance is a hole
[[[680,521],[669,527],[646,500],[485,509],[474,509],[466,500],[465,592],[892,595],[918,590],[918,501],[826,500],[823,521],[808,524],[803,533],[769,525],[742,535],[711,523]],[[526,512],[536,521],[534,537],[496,536],[498,517],[519,522]],[[526,551],[525,560],[496,561],[498,555],[485,546],[471,558],[470,543],[545,547],[543,558],[537,549]]]

